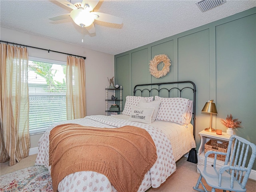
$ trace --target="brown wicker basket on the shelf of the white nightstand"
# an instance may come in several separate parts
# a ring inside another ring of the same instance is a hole
[[[219,151],[226,153],[228,150],[228,142],[217,140],[209,140],[206,144],[204,144],[204,154],[207,151]],[[214,154],[210,154],[208,157],[214,158]],[[225,161],[226,155],[217,155],[217,160]]]

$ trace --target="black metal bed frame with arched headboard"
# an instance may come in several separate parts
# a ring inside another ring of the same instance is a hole
[[[192,81],[176,81],[176,82],[164,82],[164,83],[152,83],[152,84],[139,84],[139,85],[136,85],[134,86],[134,90],[133,90],[133,95],[135,96],[136,94],[136,91],[139,90],[141,92],[141,96],[142,96],[142,92],[144,90],[148,90],[149,92],[149,96],[150,96],[150,92],[155,89],[155,90],[158,90],[158,96],[159,96],[159,92],[160,92],[160,85],[164,85],[164,84],[182,84],[182,83],[190,83],[193,85],[193,88],[191,87],[184,87],[184,88],[190,88],[193,90],[193,93],[194,93],[194,100],[193,100],[193,123],[194,123],[194,129],[193,129],[193,136],[194,136],[194,139],[195,139],[195,135],[196,135],[196,85],[194,84],[194,82]],[[152,85],[158,85],[158,89],[156,88],[153,88],[153,89],[136,89],[136,87],[138,86],[152,86]],[[176,87],[177,88],[177,87]],[[184,89],[179,89],[177,88],[178,90],[180,90],[180,97],[181,97],[181,92],[182,90]],[[173,89],[173,88],[172,88]],[[172,90],[170,89],[170,90]],[[169,96],[170,96],[170,90],[168,90],[169,92]],[[192,163],[197,163],[197,153],[196,153],[196,148],[192,148],[188,154],[188,160],[189,162],[192,162]]]

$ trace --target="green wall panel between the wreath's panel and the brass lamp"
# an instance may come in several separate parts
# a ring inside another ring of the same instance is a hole
[[[178,80],[192,80],[196,84],[196,133],[210,126],[210,115],[201,114],[204,104],[210,99],[210,54],[209,29],[198,31],[178,38]],[[182,97],[193,100],[191,92]],[[203,123],[201,123],[203,122]],[[196,134],[196,146],[200,145],[200,136]]]

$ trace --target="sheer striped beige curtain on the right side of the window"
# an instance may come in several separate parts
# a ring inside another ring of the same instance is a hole
[[[67,120],[84,118],[85,104],[85,64],[83,58],[68,56],[66,69]]]

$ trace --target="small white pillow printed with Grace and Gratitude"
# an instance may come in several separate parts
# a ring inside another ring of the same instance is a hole
[[[139,108],[136,106],[132,106],[132,112],[130,114],[129,120],[150,124],[153,112],[154,107]]]

